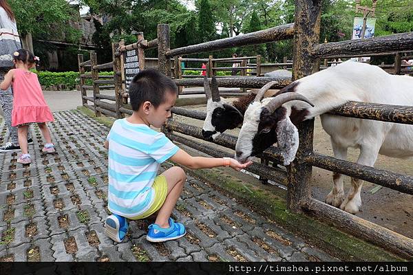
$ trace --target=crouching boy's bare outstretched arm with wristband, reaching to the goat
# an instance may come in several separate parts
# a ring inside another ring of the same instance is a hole
[[[223,158],[213,158],[213,157],[193,157],[187,152],[179,149],[175,155],[170,158],[173,162],[181,164],[191,169],[199,168],[213,168],[218,166],[225,166],[225,161]],[[247,162],[245,164],[240,164],[235,159],[229,159],[229,166],[237,171],[242,170],[249,166],[252,162]]]

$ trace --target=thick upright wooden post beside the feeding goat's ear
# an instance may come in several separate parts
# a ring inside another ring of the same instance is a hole
[[[319,43],[321,0],[296,0],[294,25],[293,80],[317,72],[319,59],[313,58],[311,49]],[[310,179],[313,167],[302,162],[302,157],[313,152],[314,120],[299,124],[299,148],[294,162],[288,167],[287,206],[301,212],[301,206],[311,196]]]

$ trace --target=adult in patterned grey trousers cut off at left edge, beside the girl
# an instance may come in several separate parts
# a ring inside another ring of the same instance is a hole
[[[16,19],[14,13],[6,0],[0,0],[0,83],[4,76],[13,66],[13,52],[21,48],[19,33],[17,32]],[[1,109],[10,132],[10,141],[6,145],[0,146],[0,153],[20,151],[19,138],[17,137],[17,127],[12,126],[13,91],[9,87],[6,91],[0,92]],[[28,135],[28,143],[33,140]]]

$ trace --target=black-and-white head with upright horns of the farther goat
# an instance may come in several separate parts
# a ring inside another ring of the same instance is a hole
[[[207,76],[204,76],[204,89],[207,96],[207,118],[202,127],[202,135],[207,140],[215,140],[224,131],[239,126],[243,116],[237,108],[221,100],[215,77],[212,78],[210,86]]]

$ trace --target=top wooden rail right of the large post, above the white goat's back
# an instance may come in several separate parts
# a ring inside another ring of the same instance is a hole
[[[368,56],[369,54],[401,52],[403,50],[413,50],[413,32],[318,44],[313,47],[313,55],[323,58],[338,58],[354,56],[354,54]]]

